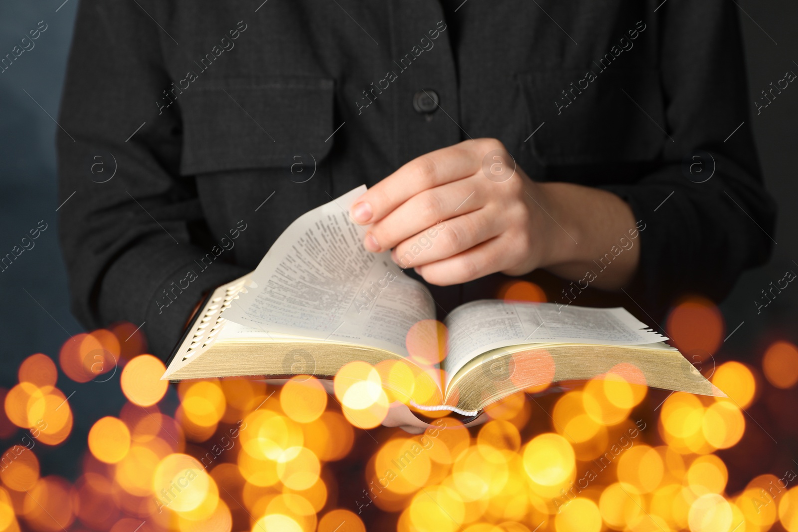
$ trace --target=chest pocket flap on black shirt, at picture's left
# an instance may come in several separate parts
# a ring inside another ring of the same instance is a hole
[[[331,79],[228,78],[192,87],[180,98],[181,175],[291,167],[308,154],[318,164],[330,153]]]

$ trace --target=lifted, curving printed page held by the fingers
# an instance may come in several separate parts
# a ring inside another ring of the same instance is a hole
[[[228,321],[268,333],[344,341],[408,356],[414,323],[434,319],[432,297],[390,258],[362,241],[349,216],[365,186],[291,223],[251,274],[253,285],[224,312]]]

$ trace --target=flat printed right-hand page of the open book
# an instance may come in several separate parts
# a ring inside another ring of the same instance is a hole
[[[449,332],[446,385],[472,358],[491,349],[538,342],[646,345],[667,340],[626,309],[484,299],[460,305],[444,321]]]

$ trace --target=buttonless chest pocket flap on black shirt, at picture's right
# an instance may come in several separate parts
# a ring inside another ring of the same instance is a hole
[[[642,163],[670,142],[657,69],[561,69],[517,80],[530,131],[540,127],[529,142],[544,166]]]

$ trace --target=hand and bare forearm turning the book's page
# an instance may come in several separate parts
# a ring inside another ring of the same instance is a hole
[[[399,266],[440,286],[537,268],[576,280],[635,225],[630,207],[610,192],[535,183],[495,139],[410,161],[366,191],[350,214],[372,224],[367,250],[393,249]],[[638,250],[617,262],[594,286],[624,286]]]

